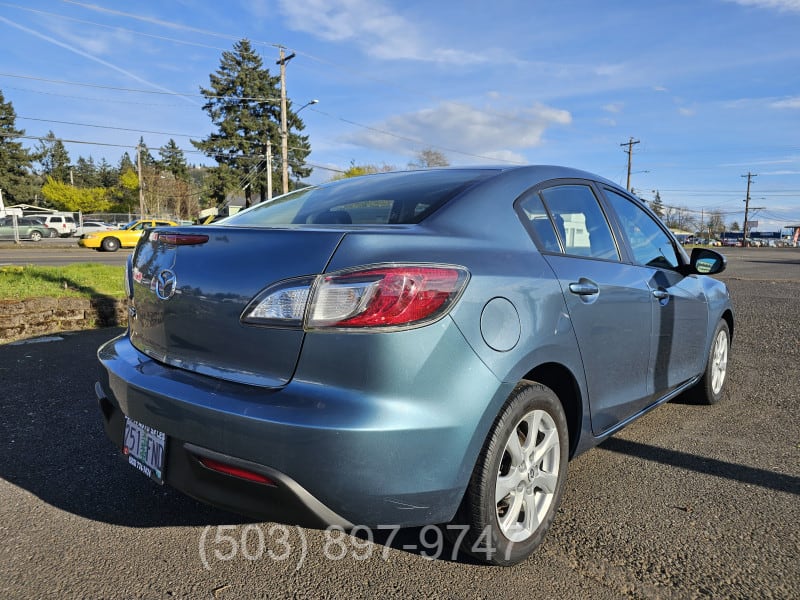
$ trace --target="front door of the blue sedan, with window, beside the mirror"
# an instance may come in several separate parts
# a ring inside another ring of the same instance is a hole
[[[667,233],[634,199],[603,187],[628,249],[630,268],[647,281],[653,303],[650,381],[654,400],[703,370],[708,306],[698,275],[683,275],[686,262]]]

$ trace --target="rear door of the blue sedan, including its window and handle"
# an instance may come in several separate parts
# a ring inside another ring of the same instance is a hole
[[[652,291],[617,243],[589,182],[559,182],[518,202],[561,285],[583,360],[592,430],[647,405]]]

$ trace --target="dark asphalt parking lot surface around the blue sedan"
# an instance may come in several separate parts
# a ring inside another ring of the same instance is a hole
[[[435,528],[353,538],[158,487],[97,414],[94,353],[119,330],[0,346],[0,596],[800,597],[800,250],[725,254],[728,397],[678,399],[573,461],[545,543],[510,569],[452,560]]]

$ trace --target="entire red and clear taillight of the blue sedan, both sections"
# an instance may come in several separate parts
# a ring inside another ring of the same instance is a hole
[[[242,322],[306,330],[388,331],[442,318],[468,271],[451,265],[378,265],[293,280],[256,296]]]

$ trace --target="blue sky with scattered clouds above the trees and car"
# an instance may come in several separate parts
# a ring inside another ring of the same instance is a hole
[[[214,131],[247,38],[302,108],[309,183],[351,164],[558,164],[754,229],[800,224],[800,0],[0,0],[0,91],[31,139],[117,164]],[[67,141],[69,140],[69,141]],[[82,142],[82,143],[79,143]],[[279,142],[276,141],[276,144]],[[625,144],[625,145],[623,145]]]

